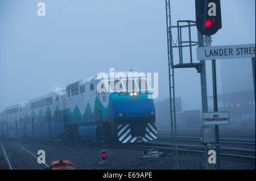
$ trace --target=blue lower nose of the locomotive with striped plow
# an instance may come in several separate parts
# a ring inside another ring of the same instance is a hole
[[[156,139],[155,106],[152,99],[118,100],[110,106],[120,142]]]

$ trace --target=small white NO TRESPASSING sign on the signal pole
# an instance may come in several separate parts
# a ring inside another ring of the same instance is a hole
[[[229,112],[204,112],[204,125],[229,124]]]

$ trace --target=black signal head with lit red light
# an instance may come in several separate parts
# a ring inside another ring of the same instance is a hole
[[[195,0],[196,27],[203,35],[214,35],[221,29],[220,0]]]

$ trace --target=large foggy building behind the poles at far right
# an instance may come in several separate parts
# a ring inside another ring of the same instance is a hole
[[[254,120],[255,99],[251,58],[221,60],[222,92],[219,110],[229,111],[230,118]]]

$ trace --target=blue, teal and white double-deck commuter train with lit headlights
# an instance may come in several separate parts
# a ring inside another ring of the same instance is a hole
[[[126,78],[119,79],[89,77],[63,90],[3,108],[1,138],[122,144],[156,140],[150,83],[141,72],[124,74]],[[99,87],[105,91],[98,91]]]

